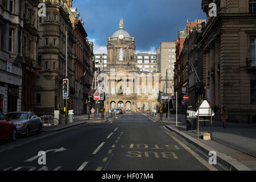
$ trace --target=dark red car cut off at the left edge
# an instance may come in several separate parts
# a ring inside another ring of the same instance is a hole
[[[0,113],[0,140],[16,140],[17,130],[13,122]]]

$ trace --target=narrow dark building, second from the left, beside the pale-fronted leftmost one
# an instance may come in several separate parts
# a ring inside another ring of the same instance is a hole
[[[38,0],[21,1],[23,34],[22,36],[22,111],[34,111],[35,88],[39,75],[38,64]]]

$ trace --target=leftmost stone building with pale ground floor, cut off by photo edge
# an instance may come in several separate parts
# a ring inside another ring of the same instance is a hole
[[[5,114],[22,109],[22,9],[19,1],[0,1],[0,111]]]

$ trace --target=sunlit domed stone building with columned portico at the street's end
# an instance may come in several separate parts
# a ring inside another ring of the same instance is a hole
[[[135,39],[123,28],[108,38],[104,69],[105,111],[122,108],[125,113],[150,112],[158,105],[159,73],[140,71],[135,64]],[[102,72],[101,72],[102,73]]]

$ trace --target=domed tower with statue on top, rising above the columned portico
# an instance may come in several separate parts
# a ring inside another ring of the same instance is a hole
[[[135,66],[135,40],[123,28],[123,19],[120,19],[118,31],[108,37],[107,68],[123,68],[138,70]]]

